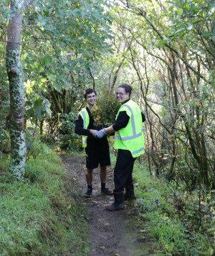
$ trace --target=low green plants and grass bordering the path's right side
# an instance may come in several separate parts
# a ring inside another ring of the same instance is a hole
[[[173,190],[149,175],[146,165],[135,163],[134,178],[142,229],[158,239],[160,250],[170,255],[213,255],[214,193],[199,207],[199,192]]]

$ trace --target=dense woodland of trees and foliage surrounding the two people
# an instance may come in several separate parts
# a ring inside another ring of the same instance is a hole
[[[163,223],[176,215],[187,239],[198,234],[208,244],[210,250],[199,245],[196,255],[213,254],[214,1],[35,0],[11,6],[0,2],[0,160],[10,157],[1,172],[10,170],[20,183],[31,180],[25,157],[37,159],[38,137],[64,150],[80,148],[74,125],[82,91],[95,88],[102,111],[112,116],[107,91],[130,83],[147,120],[140,163],[173,194],[176,211]],[[14,19],[22,34],[11,42]],[[163,239],[158,229],[155,234]]]

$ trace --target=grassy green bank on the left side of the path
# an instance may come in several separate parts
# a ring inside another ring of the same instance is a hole
[[[60,158],[43,145],[25,180],[7,169],[1,156],[0,255],[87,255],[86,209]]]

